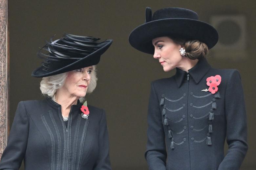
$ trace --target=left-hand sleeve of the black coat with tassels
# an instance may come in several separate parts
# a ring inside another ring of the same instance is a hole
[[[147,149],[145,158],[149,170],[166,170],[165,134],[162,124],[162,115],[159,101],[155,92],[154,83],[151,83],[151,92],[148,104]]]

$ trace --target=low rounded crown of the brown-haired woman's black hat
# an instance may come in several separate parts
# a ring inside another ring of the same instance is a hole
[[[198,14],[195,11],[184,8],[163,8],[157,10],[152,17],[152,21],[170,18],[186,18],[198,20]]]

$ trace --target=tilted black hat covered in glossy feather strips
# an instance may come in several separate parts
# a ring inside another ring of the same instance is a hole
[[[58,40],[41,48],[37,56],[43,58],[42,66],[32,72],[34,77],[47,77],[98,64],[100,56],[113,40],[99,41],[91,36],[64,34]]]

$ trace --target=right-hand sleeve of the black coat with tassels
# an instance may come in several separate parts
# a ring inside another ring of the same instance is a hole
[[[234,70],[225,92],[226,140],[228,151],[218,170],[239,170],[247,145],[245,99],[240,74]]]

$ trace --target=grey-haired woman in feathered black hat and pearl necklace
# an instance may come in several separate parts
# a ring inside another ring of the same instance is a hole
[[[96,87],[95,65],[112,40],[65,34],[38,52],[44,58],[32,76],[43,77],[44,100],[21,101],[0,169],[110,170],[104,110],[87,106]],[[42,50],[47,50],[45,54]]]

